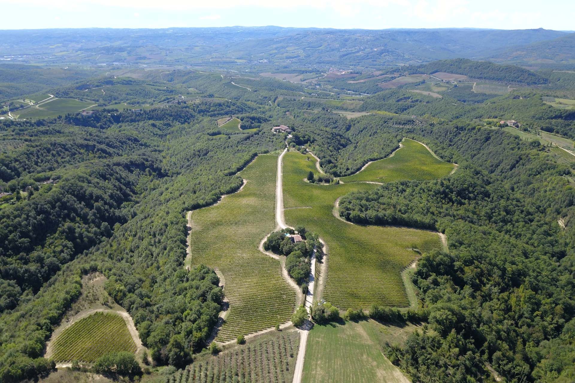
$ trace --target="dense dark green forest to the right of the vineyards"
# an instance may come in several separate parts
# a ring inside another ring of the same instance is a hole
[[[447,234],[450,252],[425,255],[413,276],[435,331],[392,347],[390,359],[415,381],[469,381],[488,374],[485,362],[509,382],[568,381],[575,190],[564,176],[572,169],[553,163],[538,142],[497,130],[404,131],[459,163],[458,171],[340,200],[340,215],[352,222]]]

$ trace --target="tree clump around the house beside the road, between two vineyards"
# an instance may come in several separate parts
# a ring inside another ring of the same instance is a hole
[[[296,231],[298,235],[301,235],[303,241],[293,241],[292,235]],[[263,243],[263,249],[286,256],[285,267],[287,273],[301,286],[304,293],[307,292],[309,273],[311,272],[310,258],[314,249],[316,254],[321,254],[322,252],[322,245],[316,234],[308,233],[303,226],[296,227],[295,231],[287,227],[271,233],[267,237],[266,242]]]

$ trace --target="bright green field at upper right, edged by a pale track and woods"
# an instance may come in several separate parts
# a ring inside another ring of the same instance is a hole
[[[397,180],[432,180],[443,177],[453,170],[453,164],[435,158],[425,146],[405,138],[403,148],[392,157],[374,161],[363,171],[341,180],[392,182]]]

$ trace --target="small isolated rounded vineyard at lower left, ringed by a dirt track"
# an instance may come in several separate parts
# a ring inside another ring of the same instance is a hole
[[[62,331],[52,345],[56,362],[95,362],[113,351],[136,351],[136,344],[120,315],[95,312]]]

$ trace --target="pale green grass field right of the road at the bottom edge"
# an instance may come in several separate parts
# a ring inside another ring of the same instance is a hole
[[[415,328],[407,327],[410,331]],[[388,328],[372,320],[346,322],[343,326],[316,324],[308,335],[302,382],[409,382],[381,353],[380,339]],[[401,332],[402,329],[394,331]]]

